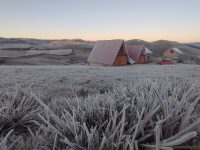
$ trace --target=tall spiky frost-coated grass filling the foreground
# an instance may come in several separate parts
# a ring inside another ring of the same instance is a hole
[[[0,95],[0,149],[172,149],[199,142],[200,86],[175,78],[117,83],[46,101]]]

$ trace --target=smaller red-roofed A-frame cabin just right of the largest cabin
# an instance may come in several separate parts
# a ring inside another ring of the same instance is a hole
[[[152,51],[144,45],[127,45],[126,48],[129,58],[133,59],[135,63],[145,64],[150,61]]]

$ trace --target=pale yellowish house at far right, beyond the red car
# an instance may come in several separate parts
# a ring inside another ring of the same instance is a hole
[[[178,48],[169,48],[164,52],[163,57],[172,60],[182,61],[183,52]]]

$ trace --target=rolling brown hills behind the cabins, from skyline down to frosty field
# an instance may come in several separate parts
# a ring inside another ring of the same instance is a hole
[[[147,42],[140,39],[132,39],[125,41],[127,45],[142,44],[148,47],[153,52],[153,57],[161,58],[163,52],[172,47],[177,47],[185,54],[186,59],[195,59],[200,56],[200,42],[196,43],[178,43],[175,41],[158,40]],[[41,40],[29,38],[0,38],[0,59],[1,64],[74,64],[86,63],[87,58],[92,50],[95,41],[85,41],[82,39],[62,39],[62,40]],[[74,55],[70,56],[23,56],[30,50],[62,50],[73,49]],[[16,56],[15,56],[16,55]],[[9,58],[10,56],[10,58]],[[6,58],[7,57],[7,58]],[[34,59],[34,61],[32,61]],[[45,61],[44,61],[45,59]],[[35,61],[36,60],[36,61]],[[60,61],[59,61],[60,60]]]

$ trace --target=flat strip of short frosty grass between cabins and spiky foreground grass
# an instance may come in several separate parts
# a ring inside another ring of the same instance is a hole
[[[134,65],[127,67],[72,66],[0,66],[0,89],[18,84],[36,93],[70,89],[89,90],[113,87],[116,82],[165,77],[199,79],[199,65]]]

